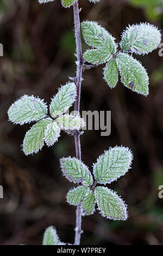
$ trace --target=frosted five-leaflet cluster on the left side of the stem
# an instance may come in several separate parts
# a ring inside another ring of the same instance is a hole
[[[76,98],[76,85],[69,82],[61,86],[50,105],[50,116],[47,115],[47,105],[34,96],[24,95],[12,104],[8,110],[9,120],[17,124],[38,121],[26,133],[23,141],[23,151],[26,155],[37,153],[43,145],[52,146],[60,136],[60,130],[66,132],[79,130],[85,122],[78,115],[64,115]]]

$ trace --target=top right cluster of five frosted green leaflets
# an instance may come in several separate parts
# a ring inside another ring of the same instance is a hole
[[[106,63],[104,80],[114,88],[118,81],[118,69],[124,86],[142,95],[148,95],[148,74],[139,61],[124,54],[145,54],[156,49],[161,41],[161,33],[149,23],[129,26],[122,34],[121,52],[117,51],[115,38],[99,26],[96,22],[82,23],[83,36],[86,43],[93,49],[86,50],[83,55],[85,61],[92,64]]]

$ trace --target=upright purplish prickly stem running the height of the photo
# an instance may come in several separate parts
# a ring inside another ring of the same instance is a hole
[[[76,86],[77,86],[77,98],[74,106],[74,111],[79,112],[80,110],[80,91],[82,82],[82,70],[83,70],[83,57],[82,57],[82,42],[80,35],[80,18],[79,18],[79,6],[78,0],[73,3],[73,13],[74,13],[74,27],[76,33],[76,54],[77,54],[77,76],[76,76]],[[74,141],[76,146],[76,157],[81,160],[81,148],[80,148],[80,133],[76,130],[74,133]],[[74,245],[80,245],[80,236],[82,234],[82,204],[77,206],[76,210],[76,234],[74,239]]]

